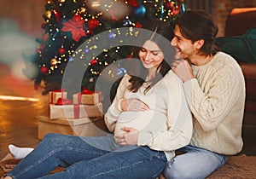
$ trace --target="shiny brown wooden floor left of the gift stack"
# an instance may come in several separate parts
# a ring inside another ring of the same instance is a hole
[[[44,113],[45,97],[40,90],[34,90],[31,80],[15,78],[9,66],[0,64],[0,159],[9,152],[10,143],[37,146],[35,117]]]

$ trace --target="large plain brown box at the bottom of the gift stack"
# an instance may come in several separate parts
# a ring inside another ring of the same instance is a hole
[[[38,139],[48,133],[59,133],[73,136],[106,136],[106,125],[103,118],[59,118],[49,119],[38,116]]]

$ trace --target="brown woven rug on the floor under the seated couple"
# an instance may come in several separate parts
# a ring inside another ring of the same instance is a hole
[[[12,170],[15,165],[20,162],[20,159],[14,159],[13,156],[8,153],[1,161],[0,161],[0,176],[3,176],[4,173]],[[57,168],[52,172],[58,172],[63,170],[62,168]],[[165,177],[160,176],[160,179],[164,179]],[[230,178],[245,178],[245,179],[253,179],[256,178],[256,156],[246,156],[242,154],[240,156],[232,156],[228,160],[228,162],[224,165],[224,167],[216,170],[212,173],[211,176],[208,176],[207,179],[218,178],[218,179],[230,179]]]

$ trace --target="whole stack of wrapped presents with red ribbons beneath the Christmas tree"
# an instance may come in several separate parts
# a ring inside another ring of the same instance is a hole
[[[38,116],[38,138],[48,133],[103,136],[106,127],[102,108],[101,92],[83,90],[68,100],[67,91],[50,91],[49,113]]]

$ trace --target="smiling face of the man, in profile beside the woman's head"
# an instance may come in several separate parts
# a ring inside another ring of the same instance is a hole
[[[197,53],[195,43],[192,43],[191,40],[183,37],[179,26],[175,26],[174,38],[172,38],[171,44],[176,49],[175,59],[191,60]]]

